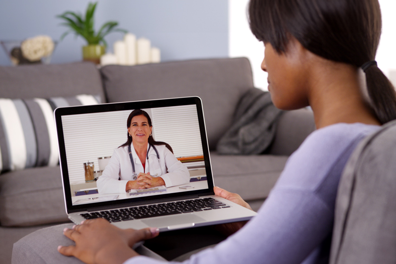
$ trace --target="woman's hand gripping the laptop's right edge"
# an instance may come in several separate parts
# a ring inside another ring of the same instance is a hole
[[[214,191],[215,195],[220,196],[224,199],[227,199],[228,201],[234,202],[240,206],[243,206],[243,207],[253,211],[251,209],[251,207],[249,206],[249,204],[247,202],[245,202],[244,199],[242,199],[242,197],[239,194],[230,193],[230,192],[228,192],[224,189],[221,189],[219,187],[214,187],[213,191]],[[239,229],[241,229],[246,223],[247,223],[247,221],[218,224],[218,225],[214,225],[214,229],[226,236],[230,236],[230,235],[234,234],[235,232],[237,232]]]

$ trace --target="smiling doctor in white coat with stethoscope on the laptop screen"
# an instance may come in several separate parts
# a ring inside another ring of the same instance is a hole
[[[190,173],[164,142],[154,141],[148,113],[133,110],[127,119],[128,140],[114,150],[97,181],[99,193],[166,187],[190,182]]]

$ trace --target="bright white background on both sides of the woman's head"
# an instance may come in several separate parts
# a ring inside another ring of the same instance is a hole
[[[396,86],[396,0],[379,0],[382,35],[376,60],[379,68]],[[246,56],[253,69],[254,85],[267,90],[267,74],[260,69],[264,46],[251,34],[247,23],[248,0],[229,0],[229,56]]]

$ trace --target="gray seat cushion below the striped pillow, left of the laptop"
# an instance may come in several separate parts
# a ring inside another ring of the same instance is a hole
[[[1,226],[67,220],[59,166],[29,168],[1,175]]]

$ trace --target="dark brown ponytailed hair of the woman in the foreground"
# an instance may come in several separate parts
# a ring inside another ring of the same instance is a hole
[[[378,0],[250,0],[248,17],[254,36],[278,53],[293,36],[311,53],[356,68],[375,59],[382,27]],[[396,119],[391,82],[376,63],[365,74],[378,120]]]

